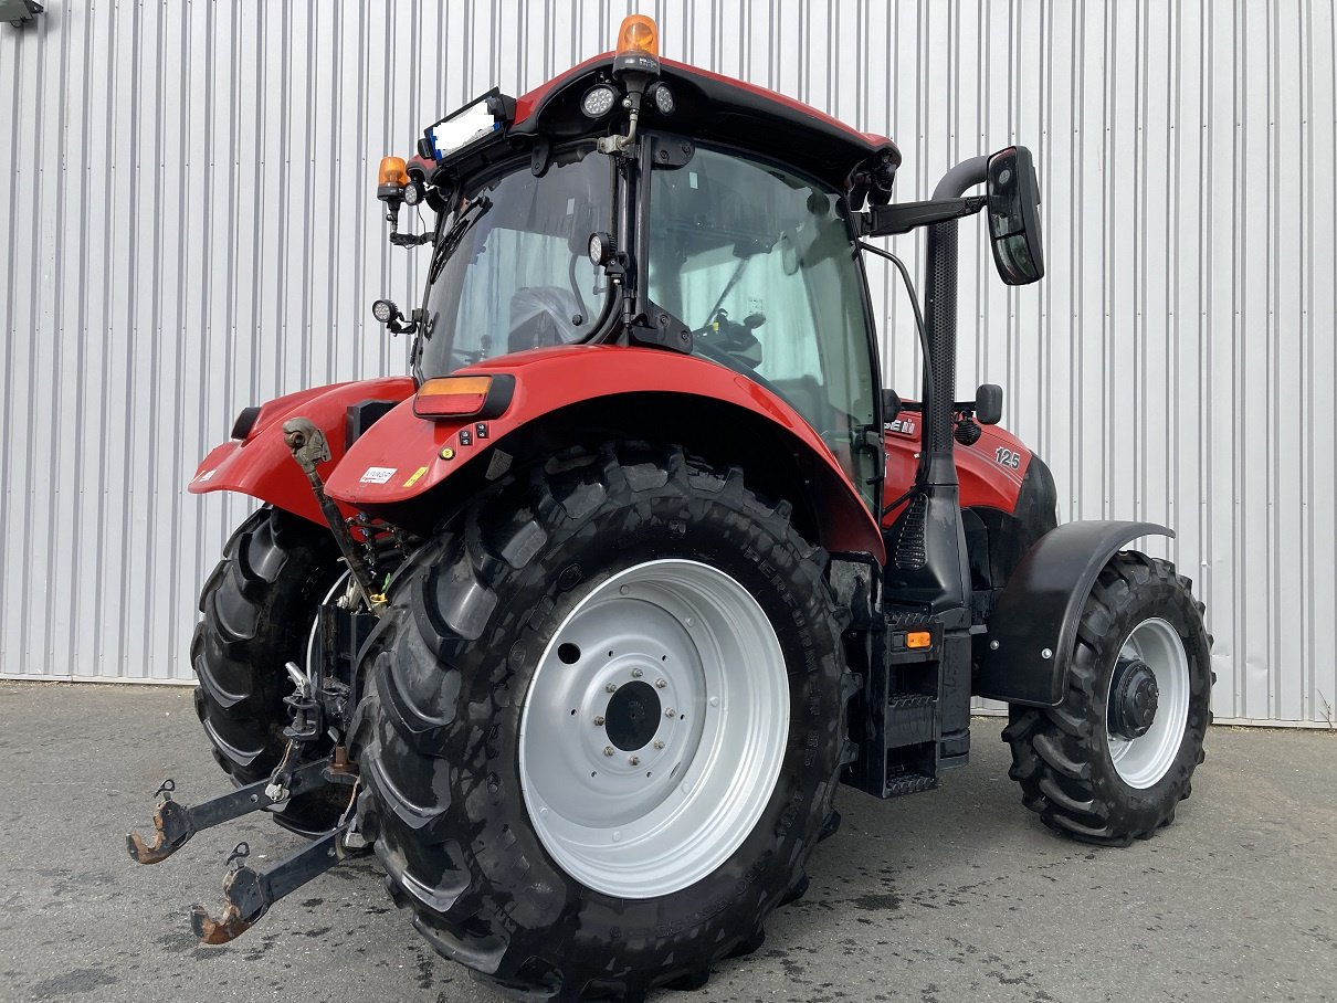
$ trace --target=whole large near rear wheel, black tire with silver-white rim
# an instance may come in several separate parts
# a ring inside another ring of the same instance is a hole
[[[364,654],[354,754],[433,947],[562,999],[754,950],[853,752],[824,571],[786,504],[677,448],[564,455],[424,547]]]

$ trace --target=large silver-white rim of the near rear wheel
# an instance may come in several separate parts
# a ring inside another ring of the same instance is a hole
[[[707,564],[650,560],[591,590],[544,649],[520,719],[524,804],[586,887],[670,895],[757,825],[787,734],[785,655],[757,600]]]

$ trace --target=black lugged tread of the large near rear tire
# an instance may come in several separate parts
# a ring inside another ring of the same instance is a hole
[[[516,614],[504,627],[491,623],[503,579],[528,568],[550,539],[592,526],[588,520],[600,511],[622,511],[616,506],[627,504],[628,497],[636,507],[656,497],[722,507],[722,518],[739,531],[759,523],[771,538],[789,540],[810,592],[822,596],[824,612],[842,626],[849,612],[825,584],[825,551],[792,528],[787,503],[770,504],[749,491],[739,467],[714,469],[689,459],[679,447],[620,443],[592,452],[567,451],[528,476],[511,475],[492,492],[443,526],[401,568],[382,617],[384,631],[364,649],[370,679],[350,738],[350,756],[362,764],[373,794],[360,804],[362,832],[374,840],[392,897],[413,912],[418,932],[439,954],[464,963],[472,978],[504,995],[640,999],[659,987],[697,988],[715,962],[757,950],[765,939],[765,915],[804,893],[808,857],[818,836],[838,825],[832,801],[846,746],[846,701],[857,690],[844,659],[838,671],[845,678],[836,681],[841,721],[830,729],[830,741],[837,742],[830,757],[833,772],[817,796],[813,817],[800,822],[812,829],[810,839],[787,859],[783,887],[766,893],[766,908],[750,923],[734,916],[727,929],[715,929],[710,920],[702,921],[717,939],[694,943],[699,950],[668,950],[660,956],[656,952],[663,948],[652,940],[638,944],[642,960],[647,954],[658,959],[646,970],[619,967],[623,948],[616,925],[582,928],[576,943],[583,947],[555,959],[540,948],[532,929],[525,935],[524,928],[539,928],[551,919],[544,911],[558,907],[541,896],[532,903],[521,904],[517,897],[503,904],[507,896],[493,892],[524,887],[529,872],[544,863],[521,852],[505,817],[489,808],[507,782],[493,769],[496,726],[491,719],[499,709],[523,701],[523,694],[508,687],[509,663],[536,655],[520,650],[521,641],[515,641],[508,657],[476,663],[469,661],[476,658],[469,649],[483,631],[489,638],[503,630],[519,637],[521,627],[547,617],[551,600],[523,617]],[[511,504],[499,503],[499,497]],[[571,568],[558,575],[559,588],[567,571]],[[838,630],[832,633],[836,645]],[[479,671],[487,678],[469,689]],[[481,694],[484,685],[487,697],[463,697]],[[439,830],[422,833],[437,824]],[[602,919],[606,913],[595,915]],[[702,935],[694,931],[694,936]],[[600,955],[598,970],[590,958],[578,956],[591,950]]]

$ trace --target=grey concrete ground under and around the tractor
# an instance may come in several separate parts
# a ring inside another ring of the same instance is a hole
[[[973,762],[937,793],[845,792],[766,944],[659,999],[1337,999],[1337,736],[1214,729],[1178,822],[1118,851],[1023,810],[1000,729],[976,719]],[[219,908],[229,849],[263,865],[301,844],[253,817],[128,860],[164,777],[187,804],[225,788],[185,689],[0,683],[0,1000],[496,999],[365,861],[198,947],[186,913]]]

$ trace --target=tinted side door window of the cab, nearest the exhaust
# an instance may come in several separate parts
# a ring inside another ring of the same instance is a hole
[[[695,329],[693,350],[785,399],[876,504],[873,349],[838,194],[698,147],[655,170],[650,230],[650,298]]]

